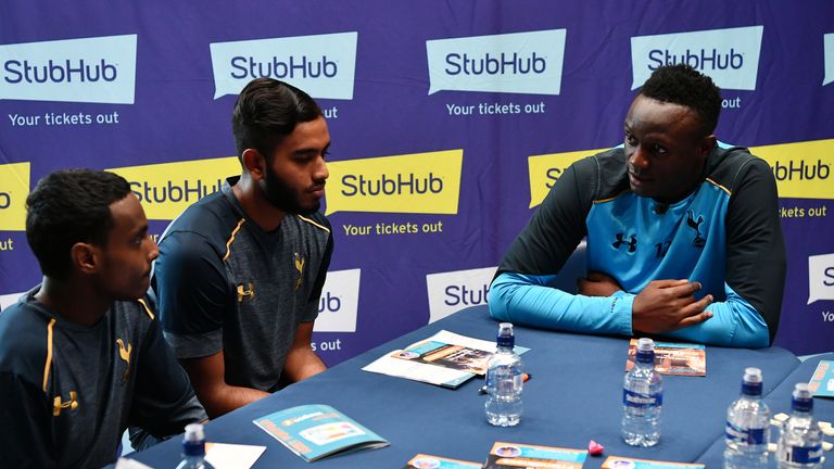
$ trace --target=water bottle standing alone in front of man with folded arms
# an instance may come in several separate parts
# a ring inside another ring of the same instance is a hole
[[[660,441],[664,381],[655,371],[655,342],[637,341],[636,364],[622,386],[622,439],[632,446],[654,446]]]

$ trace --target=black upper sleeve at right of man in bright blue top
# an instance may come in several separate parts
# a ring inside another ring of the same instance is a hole
[[[738,177],[726,214],[726,284],[761,314],[772,343],[786,269],[776,181],[758,159],[746,163]]]

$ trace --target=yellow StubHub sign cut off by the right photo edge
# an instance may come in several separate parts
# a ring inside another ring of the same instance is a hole
[[[834,199],[834,140],[754,147],[776,178],[780,198]]]

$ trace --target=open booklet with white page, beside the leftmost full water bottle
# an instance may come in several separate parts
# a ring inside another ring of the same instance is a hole
[[[528,350],[515,347],[517,354]],[[483,376],[494,353],[493,341],[442,330],[404,350],[389,352],[363,369],[455,389],[476,375]]]

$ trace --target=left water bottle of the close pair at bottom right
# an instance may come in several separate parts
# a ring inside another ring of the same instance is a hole
[[[742,395],[726,409],[724,469],[768,467],[770,409],[761,401],[761,370],[746,368]]]

